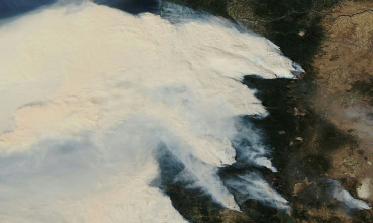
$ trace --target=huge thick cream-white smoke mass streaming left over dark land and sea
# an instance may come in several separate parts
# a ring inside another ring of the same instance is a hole
[[[169,19],[193,19],[171,23],[84,1],[0,26],[2,222],[182,222],[148,186],[160,146],[194,185],[239,210],[217,168],[235,162],[231,142],[246,131],[235,117],[266,114],[239,80],[293,78],[302,69],[263,37],[167,7]],[[252,136],[248,162],[275,171]],[[286,203],[260,190],[260,177],[244,180],[254,185],[251,198]]]

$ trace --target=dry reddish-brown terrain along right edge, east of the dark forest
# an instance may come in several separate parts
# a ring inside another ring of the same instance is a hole
[[[310,104],[356,139],[331,153],[329,175],[359,182],[358,195],[373,203],[373,2],[345,2],[328,13]]]

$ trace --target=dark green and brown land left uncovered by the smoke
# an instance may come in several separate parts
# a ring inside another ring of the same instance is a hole
[[[373,203],[373,1],[174,2],[256,31],[306,71],[297,80],[244,81],[259,89],[270,112],[247,119],[266,133],[279,168],[266,178],[292,211],[249,200],[238,213],[182,185],[181,197],[175,185],[167,187],[180,213],[193,222],[373,222],[372,210],[348,208],[325,183],[338,180],[353,197]]]

